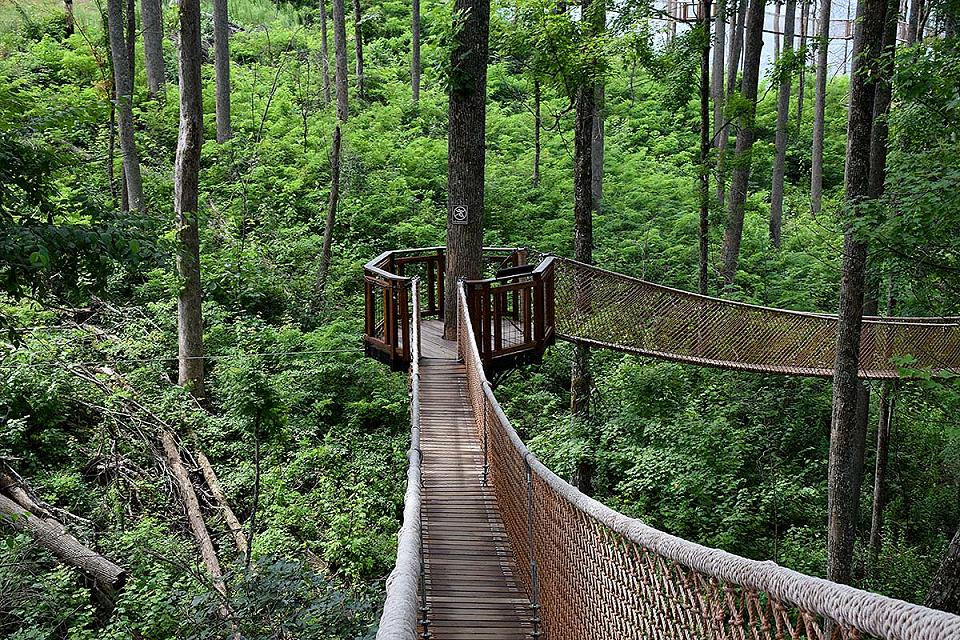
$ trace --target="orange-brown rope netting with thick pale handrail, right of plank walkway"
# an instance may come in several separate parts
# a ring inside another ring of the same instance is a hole
[[[956,640],[960,617],[668,535],[593,500],[520,440],[483,373],[462,289],[458,342],[489,482],[535,635]]]

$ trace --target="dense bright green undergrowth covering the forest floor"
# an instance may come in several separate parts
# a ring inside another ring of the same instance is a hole
[[[76,572],[4,530],[0,635],[229,635],[151,450],[150,427],[125,410],[131,397],[210,458],[241,520],[256,511],[253,570],[234,557],[209,512],[243,637],[363,637],[377,618],[393,564],[408,418],[403,376],[363,358],[360,267],[388,248],[443,242],[450,9],[424,5],[425,90],[415,107],[406,3],[365,8],[368,92],[353,101],[345,128],[334,262],[319,307],[334,114],[322,100],[316,19],[259,0],[232,2],[230,11],[240,28],[231,42],[236,135],[204,146],[200,181],[210,356],[209,405],[201,409],[173,384],[174,44],[165,43],[165,99],[147,98],[138,64],[148,210],[121,217],[108,180],[109,69],[98,6],[77,3],[80,28],[67,39],[56,3],[0,6],[0,152],[25,159],[34,179],[24,193],[37,194],[4,202],[4,212],[22,217],[0,217],[2,277],[31,282],[7,286],[0,302],[10,329],[0,355],[0,457],[44,500],[81,516],[79,533],[131,576],[104,622]],[[534,186],[531,82],[510,55],[504,15],[495,14],[491,36],[486,242],[569,254],[572,115],[565,97],[547,91],[542,178]],[[165,22],[172,33],[173,9]],[[210,24],[205,30],[209,41]],[[678,106],[676,87],[629,52],[611,67],[596,261],[693,289],[693,96],[681,92]],[[209,65],[204,82],[212,139]],[[844,78],[831,83],[825,182],[834,198],[843,178],[845,94]],[[841,236],[835,213],[807,212],[809,109],[791,140],[784,246],[768,246],[774,99],[768,92],[760,106],[738,288],[726,294],[831,310]],[[715,209],[712,258],[724,221]],[[950,311],[951,303],[931,302],[924,291],[902,296],[904,314]],[[542,366],[511,374],[498,389],[522,435],[558,473],[572,473],[586,453],[597,496],[611,506],[704,544],[823,572],[828,382],[597,353],[596,409],[590,424],[578,424],[566,406],[568,363],[569,347],[559,344]],[[106,376],[109,388],[85,381],[85,371]],[[960,517],[960,430],[952,418],[960,401],[935,381],[898,393],[889,534],[869,577],[860,553],[858,581],[916,601]],[[869,505],[862,511],[867,518]]]

